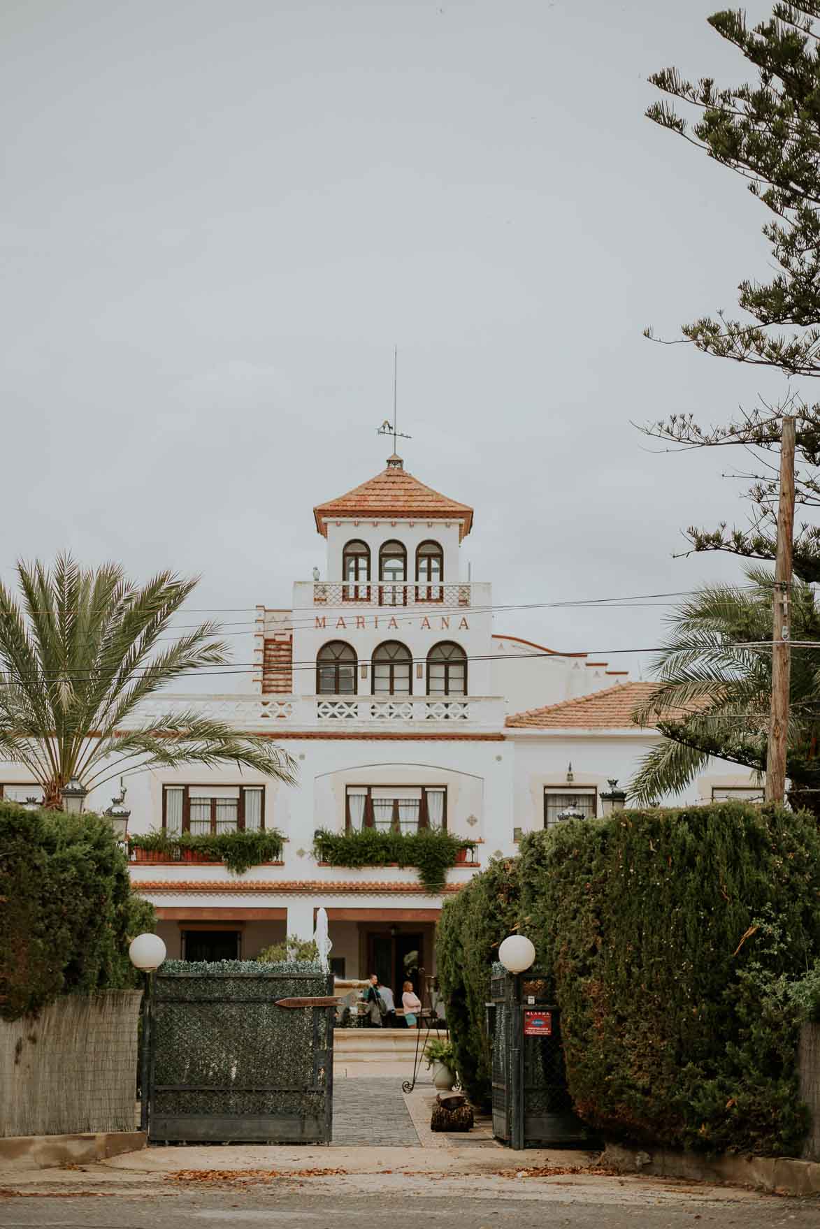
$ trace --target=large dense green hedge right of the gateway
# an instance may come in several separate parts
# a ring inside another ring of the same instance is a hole
[[[440,927],[473,1095],[488,1091],[488,967],[518,923],[562,1008],[588,1123],[670,1147],[798,1152],[795,992],[820,955],[811,816],[739,803],[627,811],[529,836],[508,866],[447,903]]]

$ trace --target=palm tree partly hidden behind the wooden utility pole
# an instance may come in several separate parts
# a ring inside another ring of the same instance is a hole
[[[652,805],[690,785],[719,756],[763,772],[771,701],[772,578],[746,570],[747,586],[707,586],[670,616],[672,635],[653,661],[658,686],[636,720],[661,741],[631,782],[636,801]],[[820,645],[820,610],[811,586],[794,580],[792,637]],[[792,805],[820,814],[820,658],[792,651],[787,772]]]

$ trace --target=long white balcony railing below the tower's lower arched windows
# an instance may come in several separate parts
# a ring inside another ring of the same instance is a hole
[[[277,729],[321,729],[344,725],[502,728],[504,702],[495,696],[156,696],[144,701],[124,728],[165,714],[193,713],[225,721],[247,734]]]

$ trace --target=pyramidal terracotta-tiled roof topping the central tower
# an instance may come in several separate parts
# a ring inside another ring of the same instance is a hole
[[[391,458],[392,460],[392,458]],[[386,469],[369,478],[361,485],[354,487],[338,499],[331,499],[326,504],[317,504],[313,509],[316,528],[327,537],[326,521],[333,517],[369,516],[402,519],[418,517],[418,520],[441,521],[460,520],[463,538],[472,528],[472,508],[467,504],[459,504],[447,495],[441,495],[432,487],[425,487],[423,482],[414,478],[412,473],[398,463],[398,458]]]

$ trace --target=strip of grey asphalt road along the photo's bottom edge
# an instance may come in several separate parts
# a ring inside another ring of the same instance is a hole
[[[507,1186],[508,1184],[503,1184]],[[708,1187],[695,1191],[670,1185],[638,1192],[602,1184],[600,1193],[572,1184],[514,1191],[498,1190],[471,1198],[436,1191],[316,1192],[288,1184],[237,1191],[172,1191],[85,1197],[0,1196],[2,1229],[216,1229],[216,1227],[290,1227],[370,1229],[379,1224],[443,1229],[706,1229],[709,1223],[743,1229],[820,1229],[820,1202],[736,1196]],[[717,1225],[716,1225],[717,1229]]]

